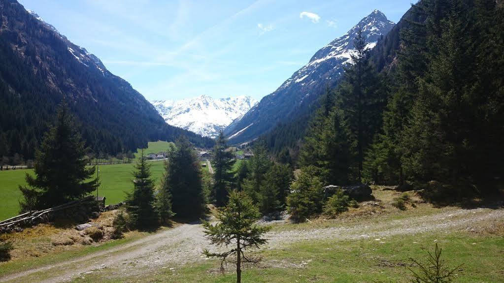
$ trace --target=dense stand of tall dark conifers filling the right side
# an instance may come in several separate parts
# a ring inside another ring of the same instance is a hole
[[[397,58],[381,73],[359,32],[297,165],[324,185],[430,189],[434,180],[432,200],[495,193],[504,169],[502,5],[426,0],[410,11],[417,20],[403,25]]]

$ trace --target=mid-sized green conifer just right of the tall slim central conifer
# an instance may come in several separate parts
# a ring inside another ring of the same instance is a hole
[[[255,144],[252,152],[254,156],[248,160],[248,175],[243,182],[243,190],[254,200],[254,203],[258,203],[261,187],[264,186],[265,175],[271,166],[271,161],[262,143]]]

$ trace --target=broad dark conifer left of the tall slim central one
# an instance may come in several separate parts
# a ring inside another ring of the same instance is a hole
[[[171,195],[172,211],[181,219],[198,219],[205,214],[206,198],[201,165],[193,145],[185,137],[168,152],[163,190]]]

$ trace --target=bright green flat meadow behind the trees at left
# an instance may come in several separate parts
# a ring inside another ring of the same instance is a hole
[[[168,149],[167,142],[149,143],[145,154],[158,153]],[[136,154],[138,156],[138,154]],[[151,164],[152,178],[156,184],[163,172],[162,161],[149,162]],[[135,163],[133,164],[113,164],[99,167],[101,186],[98,189],[99,195],[106,197],[107,204],[114,204],[124,200],[127,191],[133,189],[133,176]],[[0,208],[0,220],[18,215],[19,200],[21,199],[20,185],[26,185],[25,175],[33,174],[32,169],[21,169],[11,171],[0,171],[0,194],[2,194],[2,206]]]

